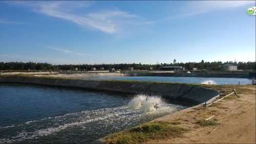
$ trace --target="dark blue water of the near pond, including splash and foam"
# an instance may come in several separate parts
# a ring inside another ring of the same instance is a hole
[[[0,84],[0,100],[0,143],[89,143],[185,108],[154,95],[26,84]]]

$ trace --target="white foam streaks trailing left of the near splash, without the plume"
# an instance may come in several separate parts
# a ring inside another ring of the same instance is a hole
[[[81,112],[68,113],[65,115],[60,115],[60,116],[55,116],[55,117],[46,117],[46,118],[42,118],[42,119],[35,120],[35,121],[28,121],[25,123],[26,125],[29,125],[29,124],[35,123],[35,122],[39,122],[39,124],[40,124],[44,121],[49,121],[49,119],[54,122],[60,122],[61,120],[64,121],[70,115],[72,115],[72,116],[76,115],[77,116],[76,119],[78,120],[77,122],[65,123],[62,125],[58,125],[57,127],[49,127],[46,129],[39,129],[39,130],[32,131],[32,132],[31,131],[22,131],[22,132],[19,132],[18,135],[13,136],[11,138],[0,139],[0,143],[12,143],[12,142],[23,141],[26,139],[36,139],[40,136],[47,136],[47,135],[59,132],[61,130],[65,130],[69,127],[74,127],[74,126],[79,127],[79,126],[82,126],[83,124],[102,121],[106,118],[111,118],[114,116],[119,116],[119,115],[123,115],[123,114],[132,112],[132,111],[115,112],[116,110],[120,110],[122,108],[123,107],[115,107],[115,108],[105,108],[105,109],[98,109],[98,110],[92,110],[92,111],[81,111]],[[97,116],[95,118],[93,118],[93,116],[89,116],[88,113],[91,113],[92,115],[97,114]],[[16,126],[24,126],[24,125],[16,125]],[[14,127],[14,125],[7,126],[5,128],[9,128],[9,127]]]

